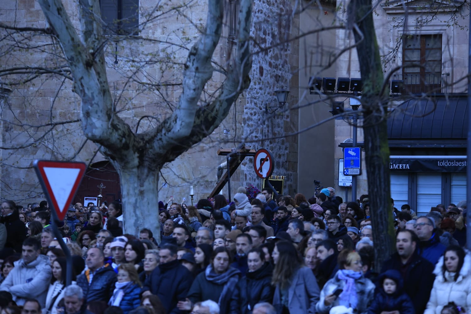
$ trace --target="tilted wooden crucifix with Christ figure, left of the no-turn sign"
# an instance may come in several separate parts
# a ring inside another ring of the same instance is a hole
[[[224,185],[227,183],[229,191],[229,200],[231,200],[231,179],[230,177],[234,174],[235,170],[239,167],[246,156],[254,156],[256,151],[245,147],[244,144],[239,145],[237,148],[219,148],[218,155],[226,156],[226,162],[223,162],[218,167],[218,183],[214,190],[212,190],[209,198],[214,197],[221,192]],[[226,170],[227,169],[227,170]],[[226,170],[226,172],[224,172]],[[224,172],[224,173],[223,173]]]

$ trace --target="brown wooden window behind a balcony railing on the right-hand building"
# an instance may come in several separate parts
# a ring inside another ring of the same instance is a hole
[[[442,35],[404,35],[402,53],[406,92],[441,92]]]

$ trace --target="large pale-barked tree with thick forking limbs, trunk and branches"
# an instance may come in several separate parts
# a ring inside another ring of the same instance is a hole
[[[236,54],[229,60],[219,97],[209,104],[200,98],[211,79],[213,53],[223,26],[224,1],[208,0],[206,27],[190,49],[182,78],[183,92],[173,113],[156,128],[133,133],[113,109],[103,54],[98,0],[80,0],[80,34],[75,30],[61,0],[38,0],[73,76],[74,91],[81,97],[81,123],[87,138],[101,145],[121,179],[123,229],[137,234],[150,227],[160,234],[158,176],[163,165],[210,135],[227,117],[237,97],[250,83],[252,60],[248,40],[252,1],[241,0]],[[142,23],[141,23],[142,24]]]

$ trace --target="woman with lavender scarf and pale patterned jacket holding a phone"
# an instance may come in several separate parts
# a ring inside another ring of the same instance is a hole
[[[333,306],[346,306],[353,313],[365,313],[374,298],[374,283],[363,276],[360,255],[342,250],[338,258],[339,271],[321,290],[316,310],[327,314]]]

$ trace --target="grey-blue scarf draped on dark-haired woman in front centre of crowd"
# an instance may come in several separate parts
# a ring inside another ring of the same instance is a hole
[[[221,295],[219,296],[219,307],[221,313],[226,312],[226,307],[229,305],[229,301],[234,292],[235,285],[239,281],[240,271],[236,268],[229,267],[226,272],[222,274],[216,274],[212,268],[212,264],[208,265],[205,270],[206,280],[214,282],[218,285],[224,285]]]

